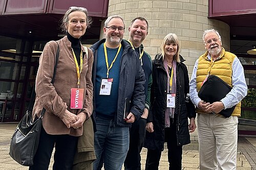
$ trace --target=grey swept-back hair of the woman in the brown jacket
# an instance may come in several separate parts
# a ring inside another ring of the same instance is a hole
[[[90,16],[88,16],[88,10],[83,7],[70,7],[69,10],[65,13],[65,15],[61,19],[60,28],[63,32],[67,31],[65,24],[68,23],[68,21],[69,21],[69,14],[72,12],[75,12],[75,11],[81,11],[86,14],[87,28],[90,28],[90,26],[92,24],[92,18]]]

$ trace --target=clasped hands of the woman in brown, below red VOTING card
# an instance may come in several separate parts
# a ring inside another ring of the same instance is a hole
[[[63,115],[61,120],[67,126],[67,128],[73,127],[74,129],[78,129],[82,127],[86,118],[87,114],[81,112],[75,115],[66,109],[65,114]]]

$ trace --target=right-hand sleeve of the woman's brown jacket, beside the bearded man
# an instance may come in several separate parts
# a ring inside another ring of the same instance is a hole
[[[87,119],[93,112],[93,83],[92,83],[92,67],[93,67],[93,53],[88,49],[88,70],[86,74],[86,96],[81,112],[87,114]]]

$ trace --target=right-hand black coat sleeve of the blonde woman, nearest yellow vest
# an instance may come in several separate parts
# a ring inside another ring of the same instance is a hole
[[[189,94],[189,79],[188,79],[188,71],[185,64],[182,63],[182,69],[184,72],[184,98],[186,99],[186,95]],[[188,112],[188,118],[196,118],[196,107],[189,99],[188,102],[186,102],[187,112]]]

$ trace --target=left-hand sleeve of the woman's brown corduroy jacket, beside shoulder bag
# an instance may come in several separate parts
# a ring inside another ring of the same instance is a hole
[[[39,59],[35,91],[39,101],[47,112],[53,113],[61,118],[68,106],[57,94],[54,85],[51,83],[56,52],[57,43],[54,41],[48,42]]]

